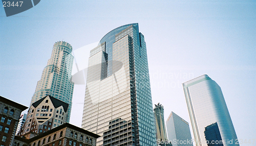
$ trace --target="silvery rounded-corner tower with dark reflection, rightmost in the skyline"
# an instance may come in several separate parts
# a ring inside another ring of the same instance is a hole
[[[205,137],[208,128],[206,127],[214,123],[217,123],[222,139],[218,141],[219,144],[223,142],[224,146],[239,145],[236,144],[237,134],[220,86],[208,75],[202,75],[182,85],[196,145],[207,145]],[[211,135],[212,137],[208,135],[207,139],[217,137],[217,134]],[[233,141],[232,144],[230,140]]]

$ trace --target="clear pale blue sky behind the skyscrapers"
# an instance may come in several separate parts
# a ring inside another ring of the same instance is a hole
[[[138,22],[153,104],[163,104],[165,120],[174,111],[190,123],[181,83],[207,74],[221,86],[238,138],[255,139],[255,8],[255,1],[55,0],[6,17],[0,5],[0,95],[29,106],[54,42],[75,50]],[[74,96],[73,107],[82,109],[83,98]],[[71,124],[80,127],[81,116],[71,114]]]

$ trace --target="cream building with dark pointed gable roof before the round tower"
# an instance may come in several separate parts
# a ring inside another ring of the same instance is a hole
[[[25,136],[29,132],[41,134],[67,123],[68,107],[69,104],[49,95],[41,98],[30,106],[24,126],[17,136]]]

